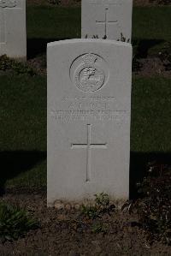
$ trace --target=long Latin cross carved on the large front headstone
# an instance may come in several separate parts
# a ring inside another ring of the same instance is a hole
[[[87,124],[86,131],[86,143],[85,144],[71,144],[71,148],[85,148],[86,149],[86,179],[85,182],[91,180],[91,148],[107,148],[107,143],[104,144],[92,144],[91,143],[91,124]]]

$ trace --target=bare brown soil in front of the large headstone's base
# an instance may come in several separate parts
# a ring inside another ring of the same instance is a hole
[[[0,200],[25,207],[40,223],[18,241],[0,243],[2,256],[171,255],[170,247],[160,242],[150,245],[143,229],[133,226],[137,216],[127,212],[113,211],[90,220],[80,211],[48,209],[45,193],[7,193]],[[103,225],[105,232],[96,232],[97,225]]]

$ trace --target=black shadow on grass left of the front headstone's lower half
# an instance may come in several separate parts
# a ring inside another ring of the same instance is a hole
[[[4,193],[5,182],[46,159],[46,152],[15,151],[0,152],[0,194]]]

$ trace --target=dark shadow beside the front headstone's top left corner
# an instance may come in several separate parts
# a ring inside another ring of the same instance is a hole
[[[47,44],[66,39],[27,39],[27,59],[46,54]]]

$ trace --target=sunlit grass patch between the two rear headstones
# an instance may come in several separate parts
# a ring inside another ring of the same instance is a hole
[[[72,39],[80,37],[80,8],[28,7],[28,39]]]

